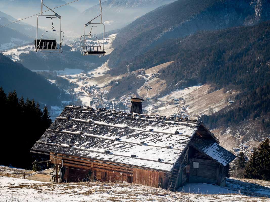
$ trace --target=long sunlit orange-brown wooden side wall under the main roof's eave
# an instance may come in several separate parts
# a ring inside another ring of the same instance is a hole
[[[79,159],[57,154],[50,155],[52,163],[62,163],[66,168],[63,180],[78,182],[92,173],[91,180],[100,182],[128,182],[167,189],[168,176],[166,172],[133,168],[124,165],[112,165],[92,159]],[[93,161],[93,162],[90,162]],[[101,172],[101,173],[100,173]],[[100,177],[101,175],[101,177]]]

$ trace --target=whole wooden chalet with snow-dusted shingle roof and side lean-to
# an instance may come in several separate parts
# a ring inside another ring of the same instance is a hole
[[[235,158],[201,122],[82,106],[65,107],[32,152],[49,155],[62,182],[126,182],[170,190],[186,182],[225,186]]]

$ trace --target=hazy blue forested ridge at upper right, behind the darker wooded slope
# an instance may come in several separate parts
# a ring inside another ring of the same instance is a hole
[[[113,43],[115,50],[109,65],[117,67],[165,40],[200,30],[253,25],[269,19],[269,10],[269,2],[262,0],[178,0],[147,13],[120,30]]]

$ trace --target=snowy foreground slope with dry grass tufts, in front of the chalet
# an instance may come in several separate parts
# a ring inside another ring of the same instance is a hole
[[[61,202],[61,201],[152,201],[152,202],[266,202],[269,198],[244,194],[195,194],[127,183],[42,183],[27,179],[0,176],[0,202]]]

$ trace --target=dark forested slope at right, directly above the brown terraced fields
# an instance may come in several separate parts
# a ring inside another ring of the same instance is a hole
[[[256,134],[270,131],[270,21],[254,26],[201,31],[126,61],[130,71],[174,61],[160,73],[168,90],[208,83],[240,91],[235,103],[203,121],[211,129],[256,121]],[[111,71],[126,71],[126,65]],[[253,128],[255,129],[255,128]]]

